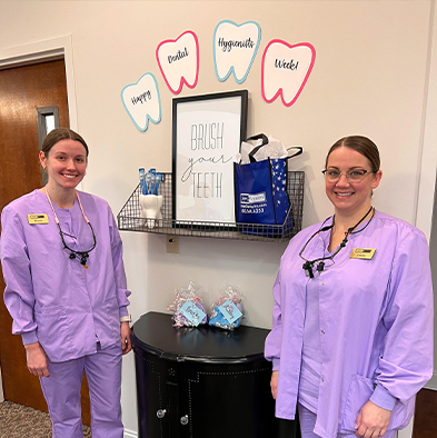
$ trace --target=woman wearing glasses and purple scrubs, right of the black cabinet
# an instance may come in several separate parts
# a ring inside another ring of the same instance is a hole
[[[338,140],[324,170],[335,213],[296,235],[274,286],[276,416],[302,438],[394,438],[433,375],[433,289],[423,232],[376,211],[379,152]]]

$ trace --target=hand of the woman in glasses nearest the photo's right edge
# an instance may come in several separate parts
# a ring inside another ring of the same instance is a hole
[[[383,437],[390,418],[391,410],[383,409],[369,400],[358,414],[355,435],[362,438]]]

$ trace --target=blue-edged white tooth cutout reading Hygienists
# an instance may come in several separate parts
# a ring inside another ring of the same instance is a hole
[[[261,28],[255,21],[237,24],[220,21],[213,32],[213,62],[219,81],[226,81],[230,73],[242,83],[254,63],[261,41]]]

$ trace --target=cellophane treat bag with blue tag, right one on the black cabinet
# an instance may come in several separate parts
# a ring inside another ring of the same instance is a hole
[[[242,297],[238,288],[226,286],[220,298],[212,305],[209,325],[225,330],[239,327],[242,319]]]

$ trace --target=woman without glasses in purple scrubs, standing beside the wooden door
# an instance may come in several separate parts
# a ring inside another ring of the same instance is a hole
[[[76,190],[88,146],[69,129],[44,139],[47,185],[4,207],[4,303],[27,366],[40,378],[53,437],[82,437],[80,386],[90,389],[93,438],[122,438],[121,356],[130,348],[121,239],[106,201]]]

